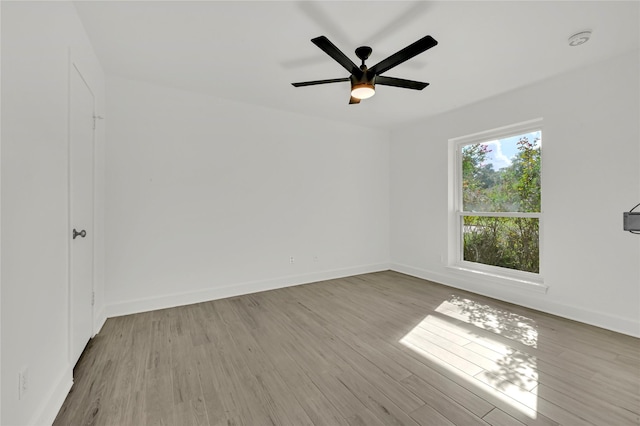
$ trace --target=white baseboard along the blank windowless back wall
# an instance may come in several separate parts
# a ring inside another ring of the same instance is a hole
[[[122,315],[135,314],[139,312],[153,311],[157,309],[190,305],[193,303],[206,302],[210,300],[224,299],[227,297],[257,293],[260,291],[275,290],[278,288],[308,284],[317,281],[348,277],[351,275],[359,275],[387,270],[389,270],[388,263],[378,263],[342,269],[333,269],[329,271],[313,272],[310,274],[290,275],[268,280],[238,283],[226,287],[208,288],[199,291],[174,293],[162,296],[148,297],[144,299],[112,303],[105,306],[104,312],[105,318],[111,318]]]

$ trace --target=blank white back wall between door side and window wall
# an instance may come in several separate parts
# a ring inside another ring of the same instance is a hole
[[[388,269],[387,133],[116,77],[107,125],[108,316]]]

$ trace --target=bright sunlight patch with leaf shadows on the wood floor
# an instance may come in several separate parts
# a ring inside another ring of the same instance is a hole
[[[486,333],[535,348],[535,321],[457,296],[442,302],[435,311],[400,343],[429,361],[425,364],[434,363],[464,379],[472,385],[465,387],[480,397],[486,395],[489,402],[497,399],[536,418],[536,357]]]

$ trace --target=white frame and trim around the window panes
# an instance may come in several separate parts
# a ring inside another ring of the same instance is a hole
[[[450,158],[453,161],[452,185],[450,185],[450,219],[449,219],[449,256],[448,266],[461,271],[480,273],[488,277],[497,277],[517,282],[519,284],[533,284],[540,286],[543,282],[543,207],[541,205],[539,213],[520,212],[465,212],[462,210],[462,147],[466,145],[480,144],[497,139],[522,135],[533,131],[542,131],[542,118],[529,120],[497,129],[487,130],[480,133],[461,136],[449,139]],[[542,154],[542,153],[541,153]],[[542,162],[544,163],[544,162]],[[541,181],[544,164],[541,164]],[[541,185],[541,192],[543,185]],[[541,203],[544,197],[541,195]],[[539,272],[526,272],[516,269],[503,268],[482,263],[469,262],[464,260],[463,254],[463,220],[465,216],[485,216],[485,217],[524,217],[538,219],[538,238],[540,250]],[[546,288],[546,287],[545,287]]]

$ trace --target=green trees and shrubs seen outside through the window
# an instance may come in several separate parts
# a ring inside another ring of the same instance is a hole
[[[540,132],[520,136],[511,164],[498,170],[488,143],[462,147],[463,259],[526,272],[540,271],[539,219],[474,213],[539,213]],[[507,143],[503,139],[500,143]]]

